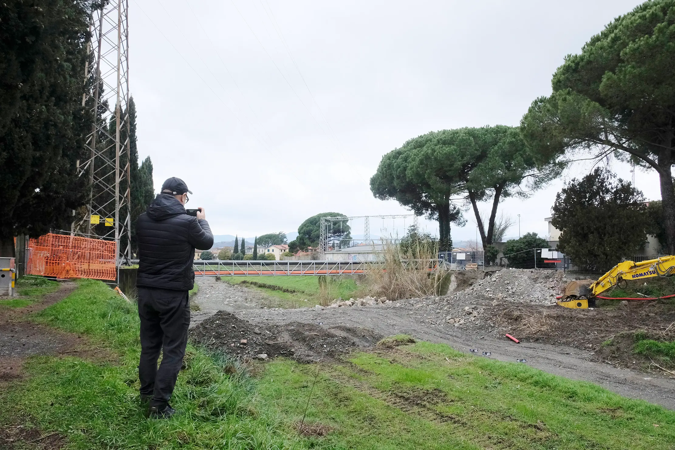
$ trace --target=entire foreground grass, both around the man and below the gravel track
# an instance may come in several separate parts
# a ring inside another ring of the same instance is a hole
[[[405,337],[340,361],[257,363],[257,378],[189,347],[172,401],[182,414],[149,420],[138,405],[134,304],[99,281],[78,284],[31,319],[85,336],[109,362],[34,356],[26,378],[0,390],[0,424],[22,418],[69,449],[660,450],[675,442],[675,412]]]

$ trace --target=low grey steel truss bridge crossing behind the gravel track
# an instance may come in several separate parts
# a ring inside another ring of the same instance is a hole
[[[429,272],[448,270],[442,260],[404,260],[405,269],[427,266]],[[422,264],[422,265],[421,265]],[[368,270],[385,270],[374,261],[202,261],[192,263],[197,277],[273,277],[302,275],[364,275]]]

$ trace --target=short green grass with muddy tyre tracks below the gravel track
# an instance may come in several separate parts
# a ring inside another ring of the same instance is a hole
[[[359,353],[321,368],[274,360],[260,383],[263,399],[289,420],[302,418],[313,390],[306,422],[334,429],[320,442],[331,449],[653,450],[675,443],[675,412],[442,344]]]

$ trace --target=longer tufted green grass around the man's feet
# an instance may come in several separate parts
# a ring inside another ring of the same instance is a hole
[[[138,313],[99,281],[80,280],[68,298],[36,322],[84,334],[109,349],[116,364],[36,356],[27,381],[0,392],[0,423],[30,417],[26,426],[67,437],[69,449],[290,449],[299,445],[272,410],[257,407],[252,379],[232,362],[190,347],[172,403],[182,414],[149,420],[138,406]]]

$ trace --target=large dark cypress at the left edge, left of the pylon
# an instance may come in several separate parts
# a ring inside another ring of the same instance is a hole
[[[90,14],[80,1],[0,7],[0,256],[14,256],[17,234],[68,229],[86,203],[76,167],[92,124],[82,107]]]

